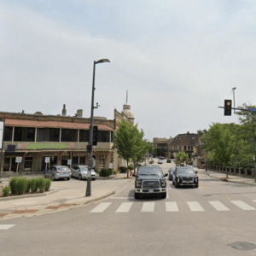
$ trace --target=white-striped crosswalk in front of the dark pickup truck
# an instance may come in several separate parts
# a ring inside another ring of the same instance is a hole
[[[230,204],[230,206],[225,206],[224,203],[220,202],[220,201],[207,201],[207,205],[210,206],[210,208],[212,210],[216,210],[218,212],[225,212],[225,211],[230,211],[231,206],[235,206],[235,208],[237,209],[241,209],[243,211],[250,211],[250,210],[256,210],[256,200],[252,200],[254,204],[254,206],[251,206],[243,201],[229,201],[228,204]],[[114,209],[112,208],[112,211],[114,212],[130,212],[133,205],[137,205],[140,204],[140,212],[154,212],[155,210],[155,202],[153,201],[149,201],[149,202],[121,202],[120,205],[118,207],[116,207],[116,204],[113,204],[112,202],[102,202],[99,203],[96,207],[94,207],[90,212],[97,212],[97,213],[101,213],[101,212],[105,212],[108,207],[110,207],[111,205],[113,205]],[[176,201],[166,201],[165,202],[165,210],[166,212],[180,212],[180,209],[178,207],[178,202]],[[206,204],[204,202],[204,204]],[[186,201],[186,205],[188,206],[188,209],[191,212],[205,212],[206,209],[204,209],[204,207],[201,206],[201,204],[198,201]],[[230,208],[229,208],[230,207]],[[207,210],[209,210],[209,208],[207,207]]]

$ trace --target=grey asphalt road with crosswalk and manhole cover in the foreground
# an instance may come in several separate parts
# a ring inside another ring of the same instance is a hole
[[[199,178],[198,189],[168,181],[166,199],[134,200],[131,183],[84,207],[3,221],[14,226],[0,230],[0,254],[256,255],[255,187]]]

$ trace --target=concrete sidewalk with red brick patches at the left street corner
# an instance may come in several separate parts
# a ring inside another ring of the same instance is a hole
[[[90,196],[85,196],[86,181],[80,181],[75,188],[61,188],[61,183],[53,182],[47,193],[27,195],[29,197],[22,195],[17,199],[1,197],[0,220],[38,216],[83,207],[85,204],[114,195],[116,191],[125,189],[131,182],[134,182],[133,177],[127,178],[126,173],[119,173],[109,179],[99,178],[96,183],[92,181]],[[2,178],[0,185],[5,186],[8,183],[9,178]]]

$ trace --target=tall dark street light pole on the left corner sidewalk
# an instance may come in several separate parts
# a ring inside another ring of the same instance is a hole
[[[95,66],[98,63],[103,63],[103,62],[110,62],[108,59],[102,59],[99,61],[93,61],[93,76],[92,76],[92,91],[91,91],[91,106],[90,106],[90,137],[89,137],[89,177],[87,178],[87,186],[86,186],[86,193],[85,196],[90,196],[91,195],[91,170],[93,168],[93,160],[92,160],[92,135],[93,135],[93,110],[94,108],[98,108],[98,106],[94,107],[94,90],[95,90]]]

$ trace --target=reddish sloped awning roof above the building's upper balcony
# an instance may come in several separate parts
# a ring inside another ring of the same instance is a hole
[[[35,120],[25,120],[25,119],[5,119],[5,125],[19,126],[19,127],[37,127],[37,128],[63,128],[63,129],[81,129],[81,130],[90,129],[90,124],[85,124],[85,123],[35,121]],[[98,130],[101,130],[101,131],[113,131],[113,129],[108,125],[97,125],[97,126],[98,126]]]

